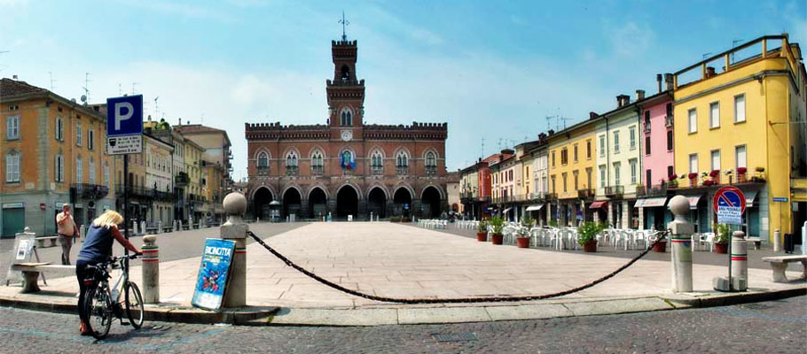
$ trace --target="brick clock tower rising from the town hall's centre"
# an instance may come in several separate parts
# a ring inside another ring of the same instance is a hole
[[[331,42],[333,81],[326,82],[331,140],[363,139],[364,80],[356,79],[356,41]]]

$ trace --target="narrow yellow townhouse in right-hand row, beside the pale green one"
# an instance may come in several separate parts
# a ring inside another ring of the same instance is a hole
[[[593,218],[595,146],[597,119],[577,123],[548,137],[549,195],[548,219],[561,226]],[[553,132],[550,132],[553,133]],[[597,205],[594,205],[597,207]]]

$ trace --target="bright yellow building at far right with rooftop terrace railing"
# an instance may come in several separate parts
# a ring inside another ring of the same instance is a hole
[[[787,35],[769,35],[675,73],[675,184],[696,231],[713,229],[714,193],[732,182],[747,199],[748,235],[794,232],[791,178],[805,175],[801,59]],[[803,203],[797,209],[803,222]]]

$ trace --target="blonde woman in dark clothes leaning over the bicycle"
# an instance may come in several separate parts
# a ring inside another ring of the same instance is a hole
[[[108,210],[92,220],[90,229],[87,230],[87,236],[84,238],[82,250],[78,253],[78,259],[75,262],[75,276],[78,278],[79,298],[78,298],[78,311],[79,318],[82,321],[81,330],[82,335],[90,335],[90,330],[85,325],[85,316],[82,313],[82,304],[84,302],[84,290],[86,286],[83,280],[92,276],[92,269],[90,266],[95,266],[98,263],[105,262],[112,256],[113,241],[117,241],[123,245],[127,250],[137,254],[142,253],[137,247],[131,244],[129,240],[121,235],[118,225],[123,223],[121,214],[115,211]],[[90,286],[97,286],[92,284]]]

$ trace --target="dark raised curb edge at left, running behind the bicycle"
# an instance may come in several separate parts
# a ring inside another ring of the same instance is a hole
[[[0,297],[0,306],[13,307],[18,309],[76,313],[75,304],[52,304],[28,301],[22,299],[9,299]],[[214,324],[227,323],[231,325],[246,325],[252,321],[266,319],[280,310],[274,306],[247,306],[245,308],[223,310],[221,312],[209,312],[188,307],[145,307],[145,319],[178,322],[191,324]]]

